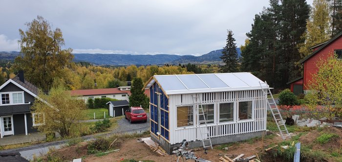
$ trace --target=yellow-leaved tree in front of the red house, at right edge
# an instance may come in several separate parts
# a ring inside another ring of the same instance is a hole
[[[308,83],[305,95],[308,106],[315,109],[323,105],[337,116],[342,116],[342,61],[336,57],[320,60],[317,73]]]

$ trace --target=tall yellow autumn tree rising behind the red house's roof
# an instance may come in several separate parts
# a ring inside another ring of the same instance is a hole
[[[327,0],[314,0],[310,18],[306,23],[306,31],[302,35],[305,42],[298,44],[301,57],[312,53],[311,46],[330,39],[329,3]]]

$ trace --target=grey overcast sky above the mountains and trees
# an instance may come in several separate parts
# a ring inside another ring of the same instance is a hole
[[[312,4],[312,0],[308,1]],[[19,28],[37,15],[73,53],[202,55],[244,44],[268,0],[0,0],[0,51],[19,51]]]

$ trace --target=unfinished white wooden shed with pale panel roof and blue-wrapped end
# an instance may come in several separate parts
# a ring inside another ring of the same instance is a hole
[[[152,76],[146,84],[151,139],[170,154],[183,139],[190,147],[201,146],[199,129],[209,130],[213,144],[262,136],[267,98],[259,82],[264,83],[249,72]],[[194,95],[201,100],[208,127],[196,120],[200,105]]]

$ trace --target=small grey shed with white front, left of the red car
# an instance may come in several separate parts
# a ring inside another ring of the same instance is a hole
[[[108,114],[112,117],[125,115],[125,111],[129,108],[127,100],[109,101],[107,105],[109,105]]]

